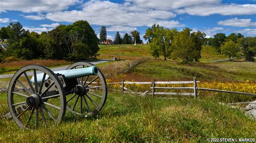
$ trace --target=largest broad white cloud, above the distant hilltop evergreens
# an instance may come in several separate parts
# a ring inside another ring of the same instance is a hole
[[[84,4],[82,10],[58,11],[46,15],[46,18],[56,22],[75,22],[84,19],[93,25],[130,27],[152,26],[159,22],[173,24],[172,20],[168,20],[173,17],[176,17],[176,14],[170,11],[136,9],[136,6],[130,3],[118,4],[109,1],[89,1]],[[175,26],[180,27],[181,24],[176,23]]]

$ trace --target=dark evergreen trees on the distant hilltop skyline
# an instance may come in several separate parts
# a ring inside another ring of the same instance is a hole
[[[107,31],[106,26],[102,26],[100,28],[99,33],[99,41],[101,44],[104,43],[104,41],[107,40]],[[143,41],[140,39],[140,33],[137,30],[134,30],[131,32],[131,34],[125,33],[124,37],[121,38],[120,32],[117,31],[116,35],[114,36],[114,44],[143,44]]]

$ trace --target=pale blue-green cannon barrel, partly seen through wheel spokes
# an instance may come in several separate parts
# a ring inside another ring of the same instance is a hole
[[[72,79],[72,78],[78,78],[83,76],[89,76],[89,75],[97,75],[98,74],[98,68],[96,66],[87,67],[87,68],[77,68],[77,69],[68,69],[68,70],[59,70],[59,71],[53,71],[55,74],[62,74],[65,75],[66,79]],[[37,74],[37,84],[40,84],[43,80],[44,74]],[[48,75],[45,76],[45,80],[48,79]],[[31,82],[35,83],[35,78],[32,76]]]

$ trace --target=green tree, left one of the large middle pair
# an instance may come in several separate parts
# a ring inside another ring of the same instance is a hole
[[[164,56],[164,59],[170,57],[171,54],[171,45],[174,38],[178,31],[176,29],[169,30],[169,28],[164,27],[154,27],[152,29],[152,37],[150,40],[150,49],[151,54],[158,58],[160,55]]]

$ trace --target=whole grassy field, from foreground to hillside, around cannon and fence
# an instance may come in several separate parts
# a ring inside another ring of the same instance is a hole
[[[183,65],[171,59],[165,61],[163,57],[154,59],[148,45],[99,47],[98,59],[111,59],[112,56],[122,59],[97,65],[104,75],[116,74],[134,61],[147,59],[131,68],[128,73],[107,76],[108,82],[154,79],[191,81],[193,77],[197,77],[199,87],[256,94],[256,63],[215,62],[228,58],[218,54],[210,46],[203,46],[200,62],[191,65]],[[0,79],[0,87],[9,80]],[[129,89],[134,88],[132,86],[127,85]],[[112,87],[109,85],[109,88]],[[117,88],[120,90],[120,85]],[[150,90],[150,87],[141,88],[147,88],[143,91]],[[0,93],[0,115],[9,110],[6,95],[6,92]],[[0,142],[206,142],[207,138],[256,137],[256,121],[246,117],[245,111],[218,103],[254,101],[255,98],[207,91],[199,92],[197,99],[173,97],[175,98],[140,97],[109,90],[106,104],[97,116],[80,118],[68,112],[62,124],[48,129],[22,130],[14,121],[0,117]]]

